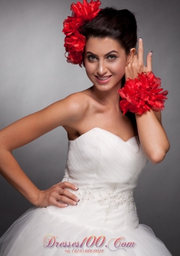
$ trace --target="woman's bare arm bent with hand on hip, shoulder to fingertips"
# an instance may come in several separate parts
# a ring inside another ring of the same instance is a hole
[[[12,155],[17,149],[39,138],[58,126],[76,127],[88,107],[84,95],[75,93],[8,125],[0,131],[0,172],[30,203],[38,207],[73,205],[76,196],[64,188],[76,190],[75,185],[65,181],[48,190],[39,190],[24,174]],[[70,199],[71,198],[71,199]],[[58,201],[64,201],[59,203]]]

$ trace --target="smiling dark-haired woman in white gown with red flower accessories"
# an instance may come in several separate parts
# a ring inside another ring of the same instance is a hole
[[[3,256],[171,255],[151,228],[138,223],[133,196],[147,161],[163,161],[170,147],[158,111],[167,91],[152,93],[159,80],[151,73],[152,52],[143,64],[141,38],[136,54],[134,15],[99,6],[93,0],[73,4],[73,17],[64,21],[67,61],[84,64],[93,86],[1,130],[1,174],[35,206],[1,237]],[[147,80],[148,104],[130,93]],[[134,86],[129,92],[128,82]],[[11,152],[58,126],[69,139],[64,178],[39,190]]]

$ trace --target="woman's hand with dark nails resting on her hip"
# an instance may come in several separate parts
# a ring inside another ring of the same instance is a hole
[[[75,185],[69,183],[68,181],[60,181],[47,190],[40,190],[34,205],[37,207],[54,205],[60,208],[64,208],[69,204],[77,205],[77,202],[79,201],[78,197],[69,192],[69,190],[66,190],[66,188],[71,188],[73,190],[78,189]],[[59,201],[62,202],[60,203]]]

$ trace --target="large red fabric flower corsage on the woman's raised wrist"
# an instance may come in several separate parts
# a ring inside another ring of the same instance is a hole
[[[165,109],[164,102],[167,100],[168,91],[163,91],[161,79],[155,77],[152,72],[138,73],[138,78],[127,78],[125,86],[118,90],[122,97],[120,109],[123,114],[127,111],[143,114],[150,109],[162,111]],[[161,92],[161,93],[160,93]]]

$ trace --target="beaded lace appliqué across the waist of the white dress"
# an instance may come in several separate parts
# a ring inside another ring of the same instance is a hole
[[[70,181],[71,179],[67,179]],[[65,180],[62,180],[65,181]],[[73,183],[73,181],[72,181]],[[75,194],[80,201],[79,206],[84,205],[87,201],[94,201],[98,206],[105,206],[104,221],[107,221],[107,217],[111,214],[113,209],[118,209],[118,206],[124,205],[126,208],[126,214],[129,214],[129,205],[133,204],[133,208],[136,211],[136,203],[134,202],[133,190],[123,190],[116,192],[116,186],[118,183],[113,183],[110,187],[104,188],[90,188],[87,183],[84,188],[79,187],[77,191],[66,188],[71,193]]]

